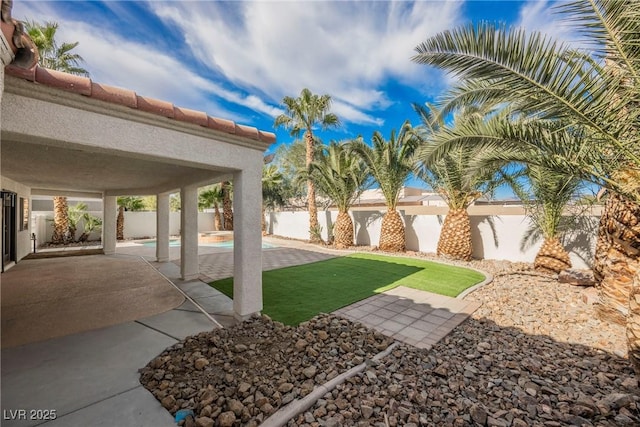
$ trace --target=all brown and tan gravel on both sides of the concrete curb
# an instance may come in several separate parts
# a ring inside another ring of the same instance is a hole
[[[640,425],[624,328],[598,320],[580,287],[526,263],[456,264],[495,278],[466,297],[482,307],[430,350],[403,344],[369,361],[391,339],[333,315],[295,328],[263,316],[174,345],[141,382],[172,414],[194,411],[180,425],[255,426],[367,361],[287,425]]]

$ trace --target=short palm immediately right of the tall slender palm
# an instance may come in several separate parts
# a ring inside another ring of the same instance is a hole
[[[318,191],[338,208],[333,227],[337,248],[353,246],[353,221],[349,216],[349,208],[362,194],[369,177],[366,165],[359,157],[351,155],[347,144],[349,142],[331,142],[322,147],[308,171]]]

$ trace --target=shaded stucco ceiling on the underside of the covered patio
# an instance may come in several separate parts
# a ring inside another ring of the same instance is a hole
[[[2,174],[31,187],[32,195],[147,195],[183,185],[227,179],[231,171],[181,164],[171,159],[88,150],[86,147],[3,135]]]

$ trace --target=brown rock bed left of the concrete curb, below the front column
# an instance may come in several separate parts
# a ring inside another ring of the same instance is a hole
[[[258,425],[392,342],[334,316],[298,327],[263,316],[170,347],[140,370],[140,382],[172,414],[193,410],[182,425]]]

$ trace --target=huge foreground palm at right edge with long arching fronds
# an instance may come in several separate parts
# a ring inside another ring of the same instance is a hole
[[[558,10],[589,42],[591,55],[542,34],[483,23],[428,39],[413,59],[462,78],[452,102],[504,102],[523,116],[585,128],[587,138],[573,141],[589,154],[582,161],[564,156],[560,145],[545,161],[617,194],[605,215],[612,221],[604,231],[602,287],[628,298],[629,354],[640,372],[640,11],[634,0],[573,1]],[[601,303],[618,308],[604,298]]]

